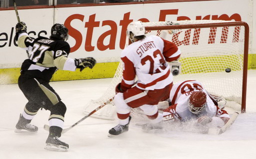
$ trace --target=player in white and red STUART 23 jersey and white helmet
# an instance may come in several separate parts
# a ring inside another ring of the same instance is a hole
[[[141,21],[129,23],[126,34],[132,43],[121,52],[123,74],[114,96],[119,124],[109,130],[109,136],[128,130],[131,108],[140,107],[152,123],[162,120],[156,105],[161,99],[168,98],[172,86],[167,62],[180,56],[174,43],[155,35],[145,36]]]

